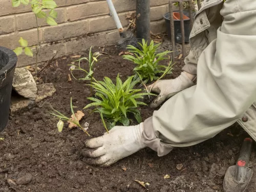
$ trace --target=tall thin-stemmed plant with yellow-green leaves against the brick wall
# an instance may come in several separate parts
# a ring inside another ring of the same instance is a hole
[[[55,22],[55,19],[57,18],[57,12],[54,10],[57,5],[53,0],[12,0],[12,6],[18,7],[20,4],[23,4],[25,6],[30,5],[32,11],[35,14],[35,20],[36,20],[36,28],[37,28],[37,45],[36,45],[36,66],[35,66],[35,72],[37,73],[37,56],[38,56],[38,50],[40,46],[39,42],[39,28],[41,25],[46,22],[50,26],[56,26],[57,23]],[[44,9],[50,10],[48,13],[43,11]],[[38,18],[44,18],[43,22],[38,25]],[[23,47],[25,47],[24,52],[26,55],[33,57],[32,50],[28,47],[28,41],[20,37],[19,44],[22,47],[17,47],[14,49],[14,52],[17,55],[20,55],[23,53]]]

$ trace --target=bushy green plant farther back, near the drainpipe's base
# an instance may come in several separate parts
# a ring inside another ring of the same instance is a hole
[[[133,61],[137,67],[134,68],[136,72],[135,79],[141,76],[143,82],[146,84],[148,81],[153,81],[158,79],[157,74],[164,73],[167,69],[167,66],[159,65],[159,62],[164,59],[169,59],[169,57],[165,57],[171,51],[164,51],[161,53],[156,53],[160,44],[154,45],[154,41],[150,42],[150,45],[147,45],[147,41],[145,42],[142,39],[142,44],[140,44],[142,50],[137,49],[134,46],[127,46],[129,52],[133,53],[133,55],[123,55],[124,59]],[[171,70],[168,71],[170,73]],[[139,75],[138,75],[139,74]]]

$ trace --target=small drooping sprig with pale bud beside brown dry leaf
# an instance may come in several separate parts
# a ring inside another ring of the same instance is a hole
[[[87,132],[86,128],[82,127],[79,123],[79,120],[76,119],[76,115],[74,113],[74,106],[72,104],[72,98],[70,98],[70,109],[73,115],[74,120],[72,120],[70,117],[67,117],[65,115],[63,115],[62,113],[58,112],[57,110],[53,109],[53,112],[50,113],[51,115],[57,117],[57,119],[59,119],[58,123],[57,123],[57,128],[58,131],[61,132],[64,126],[64,122],[63,121],[67,121],[67,122],[72,122],[75,125],[77,125],[77,127],[79,127],[79,129],[81,129],[84,133],[86,133],[88,136],[90,136],[90,134]]]

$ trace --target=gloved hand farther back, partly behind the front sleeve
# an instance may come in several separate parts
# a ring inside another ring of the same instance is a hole
[[[155,84],[151,84],[147,87],[151,92],[158,93],[158,97],[151,103],[152,109],[157,108],[165,99],[168,99],[178,92],[194,86],[193,79],[196,75],[189,74],[187,72],[181,72],[180,76],[175,79],[159,80]]]

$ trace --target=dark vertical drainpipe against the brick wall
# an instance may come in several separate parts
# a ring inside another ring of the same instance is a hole
[[[150,0],[137,0],[136,3],[137,39],[150,40]]]

